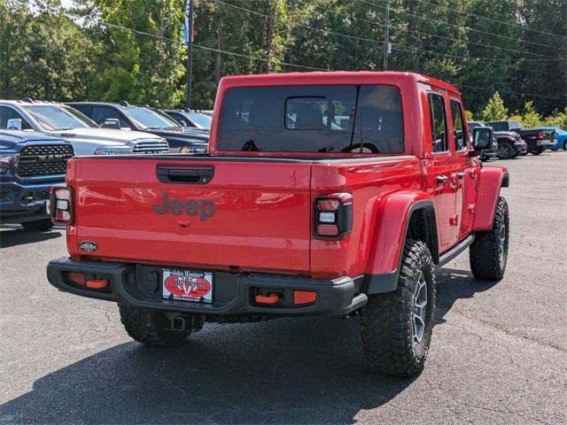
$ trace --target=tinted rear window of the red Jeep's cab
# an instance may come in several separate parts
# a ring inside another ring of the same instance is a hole
[[[401,153],[401,99],[386,85],[229,89],[219,151]]]

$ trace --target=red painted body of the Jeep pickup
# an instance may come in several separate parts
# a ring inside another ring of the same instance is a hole
[[[226,152],[216,147],[223,94],[235,87],[389,84],[400,89],[405,150],[362,153]],[[396,270],[412,205],[433,205],[438,251],[492,225],[503,168],[482,168],[467,151],[431,152],[428,93],[461,103],[450,84],[415,73],[288,73],[224,78],[217,92],[207,158],[73,158],[75,222],[67,229],[73,259],[128,261],[211,270],[267,271],[337,277]],[[464,110],[464,108],[462,108]],[[466,128],[466,120],[464,122]],[[466,135],[467,143],[468,134]],[[237,155],[237,158],[235,156]],[[254,157],[255,159],[252,159]],[[291,158],[300,158],[293,160]],[[251,160],[252,159],[252,160]],[[329,159],[329,160],[327,160]],[[157,166],[214,166],[206,184],[159,182]],[[464,177],[460,174],[464,173]],[[440,174],[447,182],[439,184]],[[183,202],[211,200],[206,220],[157,214],[164,191]],[[350,233],[340,241],[315,238],[315,198],[353,195]],[[78,250],[84,240],[98,250]]]

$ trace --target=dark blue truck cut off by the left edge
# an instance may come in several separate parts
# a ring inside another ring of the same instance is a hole
[[[0,131],[0,223],[27,230],[53,227],[50,188],[65,182],[73,147],[48,135]]]

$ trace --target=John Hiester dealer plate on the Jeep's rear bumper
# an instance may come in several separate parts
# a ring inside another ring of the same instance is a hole
[[[164,269],[162,297],[194,303],[213,302],[213,273]]]

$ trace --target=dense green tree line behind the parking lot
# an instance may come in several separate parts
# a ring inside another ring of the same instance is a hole
[[[453,82],[483,119],[507,118],[494,109],[499,93],[527,122],[558,122],[567,104],[564,2],[194,0],[192,104],[211,108],[229,74],[383,70],[389,4],[388,69]],[[72,10],[59,0],[0,0],[0,97],[181,105],[182,22],[183,0],[74,0]]]

